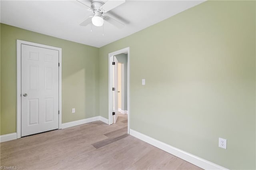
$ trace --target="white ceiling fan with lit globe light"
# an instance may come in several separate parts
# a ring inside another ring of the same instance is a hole
[[[92,23],[94,26],[100,27],[104,24],[104,20],[105,20],[108,23],[112,24],[113,26],[116,26],[117,28],[124,28],[124,24],[122,24],[121,22],[118,22],[117,20],[109,16],[106,16],[106,15],[103,16],[102,14],[123,4],[125,0],[108,0],[106,3],[103,3],[98,0],[87,1],[91,3],[90,6],[89,4],[84,3],[86,1],[82,1],[82,0],[76,0],[76,1],[88,7],[88,10],[94,13],[93,16],[89,16],[83,22],[81,22],[80,26],[87,26],[88,24]]]

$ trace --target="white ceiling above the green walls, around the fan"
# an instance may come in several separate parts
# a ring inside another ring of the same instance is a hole
[[[106,1],[103,1],[106,2]],[[125,27],[115,28],[109,23],[103,27],[79,26],[91,11],[75,0],[1,0],[1,23],[26,30],[102,47],[179,12],[196,6],[204,0],[126,0],[124,4],[104,13]]]

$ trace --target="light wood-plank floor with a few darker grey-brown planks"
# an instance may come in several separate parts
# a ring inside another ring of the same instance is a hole
[[[2,142],[1,166],[18,169],[200,169],[127,134],[127,115]]]

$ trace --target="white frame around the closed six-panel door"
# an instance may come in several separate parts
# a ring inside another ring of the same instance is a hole
[[[39,43],[26,42],[17,40],[17,138],[21,138],[21,45],[32,45],[36,47],[54,49],[59,51],[59,129],[62,128],[62,100],[61,100],[61,83],[62,83],[62,49],[58,47],[52,47],[49,45],[43,45]]]

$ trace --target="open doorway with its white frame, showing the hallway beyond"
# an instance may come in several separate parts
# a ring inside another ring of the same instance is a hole
[[[108,123],[127,123],[130,132],[130,47],[108,54]]]

